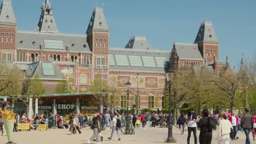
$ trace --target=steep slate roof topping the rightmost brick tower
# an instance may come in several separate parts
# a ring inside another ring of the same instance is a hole
[[[219,43],[216,33],[212,27],[212,22],[203,21],[196,35],[195,42],[198,43]]]

